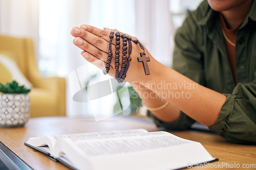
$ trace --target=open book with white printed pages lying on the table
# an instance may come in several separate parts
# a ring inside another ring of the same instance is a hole
[[[217,160],[199,142],[144,129],[35,137],[25,144],[72,169],[177,169]]]

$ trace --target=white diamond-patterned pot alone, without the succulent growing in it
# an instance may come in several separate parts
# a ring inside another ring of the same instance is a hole
[[[29,119],[30,98],[28,94],[0,94],[0,127],[24,126]]]

